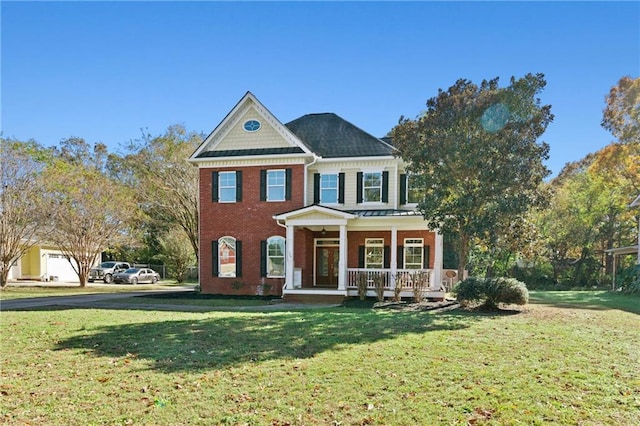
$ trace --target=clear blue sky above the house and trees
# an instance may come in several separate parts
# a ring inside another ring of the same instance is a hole
[[[283,123],[375,136],[459,78],[545,74],[557,174],[613,140],[604,97],[640,75],[638,2],[0,2],[2,134],[119,150],[209,133],[247,91]]]

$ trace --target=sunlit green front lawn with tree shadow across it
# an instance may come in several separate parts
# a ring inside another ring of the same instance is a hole
[[[640,298],[531,300],[502,314],[5,311],[0,419],[637,425]]]

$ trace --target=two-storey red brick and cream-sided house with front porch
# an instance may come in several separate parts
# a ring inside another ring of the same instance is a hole
[[[341,301],[360,282],[369,296],[381,283],[387,297],[422,285],[443,298],[442,236],[416,211],[394,154],[332,113],[282,124],[247,92],[189,159],[200,172],[201,291]]]

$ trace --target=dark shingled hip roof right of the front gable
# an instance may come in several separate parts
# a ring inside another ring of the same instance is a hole
[[[285,124],[323,158],[393,155],[394,148],[333,113],[307,114]]]

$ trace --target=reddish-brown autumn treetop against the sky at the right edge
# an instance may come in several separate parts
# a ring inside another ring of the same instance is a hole
[[[640,143],[640,77],[622,77],[605,100],[602,127],[622,143]]]

